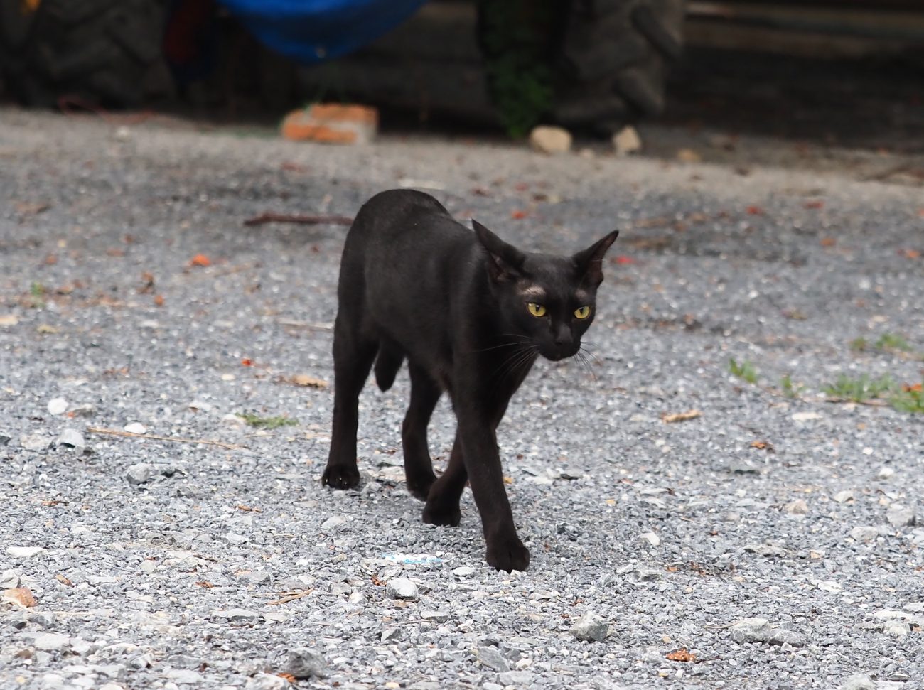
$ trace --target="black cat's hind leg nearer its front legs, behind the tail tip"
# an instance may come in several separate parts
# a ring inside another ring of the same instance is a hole
[[[442,391],[425,369],[413,363],[408,363],[407,369],[410,372],[410,405],[401,428],[405,478],[411,495],[426,501],[436,479],[427,445],[427,425]]]

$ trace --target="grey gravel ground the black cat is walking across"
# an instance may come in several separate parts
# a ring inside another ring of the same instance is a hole
[[[242,224],[421,183],[524,246],[623,229],[592,370],[540,362],[499,430],[527,573],[468,492],[420,523],[404,371],[361,398],[361,489],[322,488],[333,393],[298,383],[332,379],[346,228]],[[0,252],[0,572],[37,599],[0,606],[0,687],[921,687],[924,415],[819,393],[921,380],[919,189],[5,110]],[[242,447],[91,431],[127,427]]]

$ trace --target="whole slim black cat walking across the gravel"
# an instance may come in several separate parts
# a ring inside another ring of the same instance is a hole
[[[439,201],[407,189],[377,194],[359,210],[340,265],[334,429],[322,481],[335,489],[359,484],[359,392],[373,360],[385,391],[407,358],[404,465],[408,490],[426,501],[423,521],[458,525],[468,480],[488,563],[525,570],[529,551],[514,527],[494,432],[538,355],[558,360],[577,354],[593,321],[603,255],[617,233],[572,257],[555,257],[520,251],[472,225],[474,233]],[[546,313],[534,316],[529,303]],[[590,315],[578,319],[576,309],[585,306]],[[427,425],[444,391],[458,425],[449,464],[436,478]]]

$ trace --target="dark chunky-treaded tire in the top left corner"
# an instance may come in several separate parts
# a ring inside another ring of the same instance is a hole
[[[0,18],[20,0],[0,0]],[[43,0],[24,35],[0,32],[6,90],[30,106],[76,97],[105,107],[138,105],[161,57],[165,0]]]

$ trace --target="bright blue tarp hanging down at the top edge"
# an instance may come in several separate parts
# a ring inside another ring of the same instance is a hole
[[[350,53],[425,0],[219,0],[263,44],[304,63]]]

